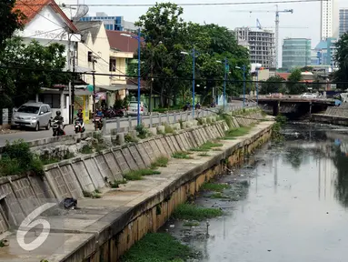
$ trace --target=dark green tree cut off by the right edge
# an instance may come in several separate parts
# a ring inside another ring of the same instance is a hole
[[[333,75],[333,81],[348,82],[348,32],[343,34],[336,43],[334,60],[338,65],[338,70]],[[347,89],[347,84],[339,84],[337,88]]]

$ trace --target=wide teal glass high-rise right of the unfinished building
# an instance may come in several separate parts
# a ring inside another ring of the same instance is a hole
[[[283,40],[283,68],[311,65],[311,39],[286,38]]]

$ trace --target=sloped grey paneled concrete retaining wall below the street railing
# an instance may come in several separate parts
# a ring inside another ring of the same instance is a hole
[[[248,117],[252,119],[234,118],[234,126],[246,126],[263,118],[261,113]],[[104,188],[108,185],[107,181],[120,181],[123,174],[150,166],[159,156],[170,157],[175,152],[201,146],[208,140],[223,137],[227,130],[226,123],[220,121],[213,125],[197,126],[169,136],[155,136],[138,144],[112,147],[99,154],[79,156],[45,166],[43,177],[30,174],[0,177],[0,207],[8,207],[13,219],[22,221],[36,207],[31,207],[32,204],[25,205],[24,199],[37,199],[39,205],[42,204],[40,199],[81,198],[84,191],[93,192],[95,189]],[[0,208],[0,234],[6,229]]]

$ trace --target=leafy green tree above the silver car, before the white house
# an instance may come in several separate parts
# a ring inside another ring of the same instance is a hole
[[[65,68],[65,46],[23,43],[20,37],[5,40],[0,52],[0,107],[20,106],[40,93],[42,87],[66,84],[70,75],[61,73]],[[23,69],[15,69],[23,68]]]

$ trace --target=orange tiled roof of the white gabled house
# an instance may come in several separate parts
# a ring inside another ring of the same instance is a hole
[[[46,5],[50,5],[55,13],[65,20],[66,25],[68,25],[74,32],[77,32],[77,28],[73,22],[65,15],[54,0],[17,0],[14,9],[21,11],[25,15],[26,19],[23,22],[24,24],[27,24],[33,20],[33,18],[38,15]]]

